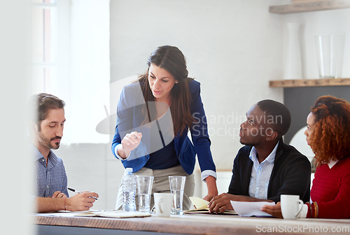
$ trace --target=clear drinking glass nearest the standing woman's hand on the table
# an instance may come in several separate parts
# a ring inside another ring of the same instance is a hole
[[[174,194],[173,215],[183,214],[183,190],[185,189],[186,176],[169,176],[170,190]]]

